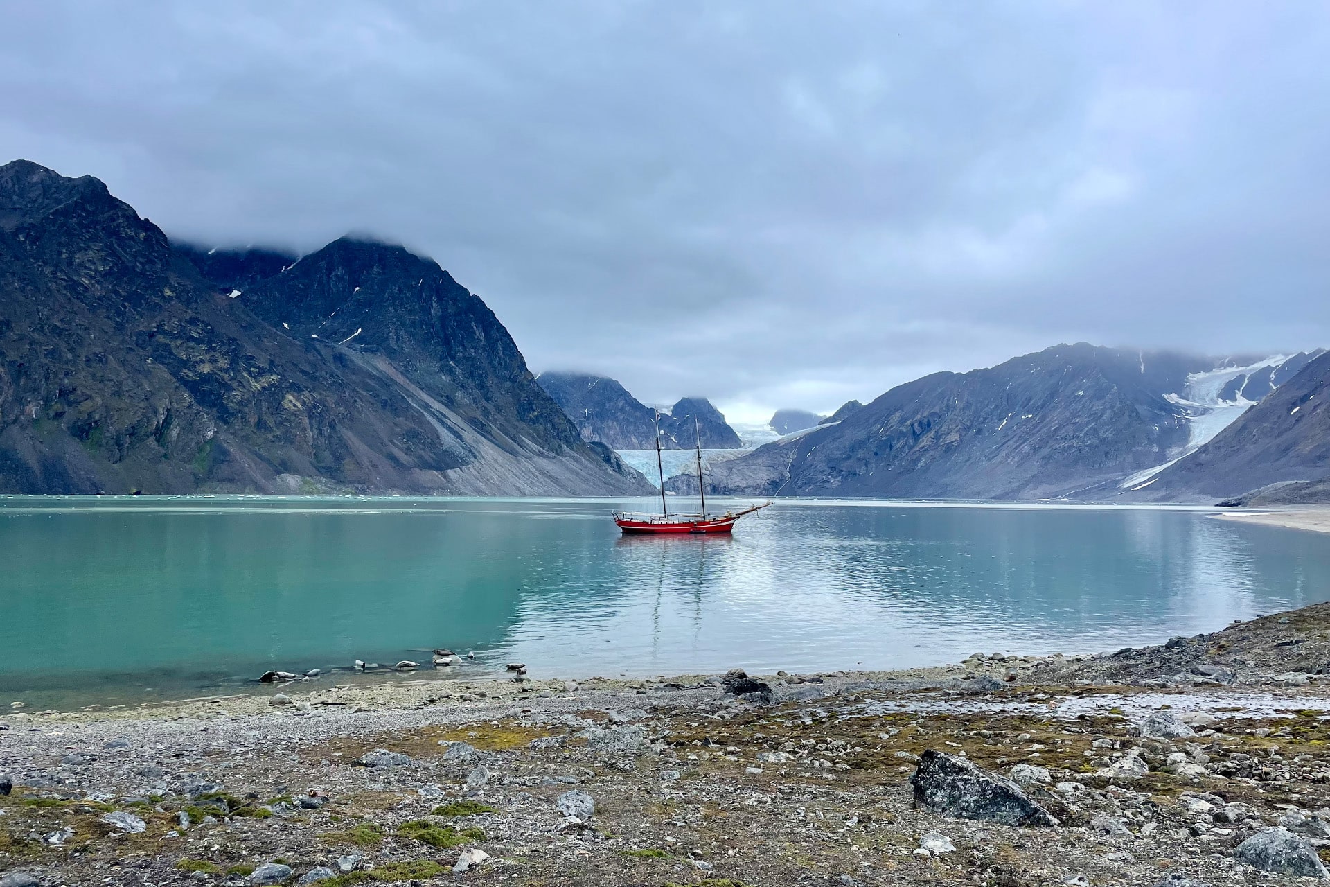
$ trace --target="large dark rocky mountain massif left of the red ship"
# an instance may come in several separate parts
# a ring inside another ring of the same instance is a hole
[[[174,250],[96,178],[0,166],[0,491],[650,492],[434,262],[290,259]]]

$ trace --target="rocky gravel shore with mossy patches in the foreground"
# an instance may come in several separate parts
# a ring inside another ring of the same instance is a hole
[[[0,884],[1293,883],[1330,856],[1327,672],[1315,605],[898,673],[19,710]]]

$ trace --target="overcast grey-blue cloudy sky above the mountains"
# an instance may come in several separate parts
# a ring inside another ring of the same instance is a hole
[[[116,8],[118,5],[118,8]],[[732,420],[1063,340],[1330,346],[1330,5],[5,3],[0,162],[431,255]]]

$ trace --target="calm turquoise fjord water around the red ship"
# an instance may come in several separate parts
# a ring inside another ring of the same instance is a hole
[[[782,501],[733,539],[630,539],[621,504],[0,497],[0,702],[221,693],[435,646],[475,650],[464,674],[896,668],[1330,598],[1330,537],[1197,511]]]

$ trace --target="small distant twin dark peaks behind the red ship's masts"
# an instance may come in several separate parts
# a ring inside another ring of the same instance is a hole
[[[563,407],[584,440],[602,443],[612,449],[650,449],[656,445],[654,410],[640,403],[613,379],[587,372],[541,372],[536,382]],[[668,414],[661,412],[661,445],[665,449],[690,449],[697,440],[694,416],[702,447],[730,449],[743,445],[721,411],[705,398],[682,398]]]

